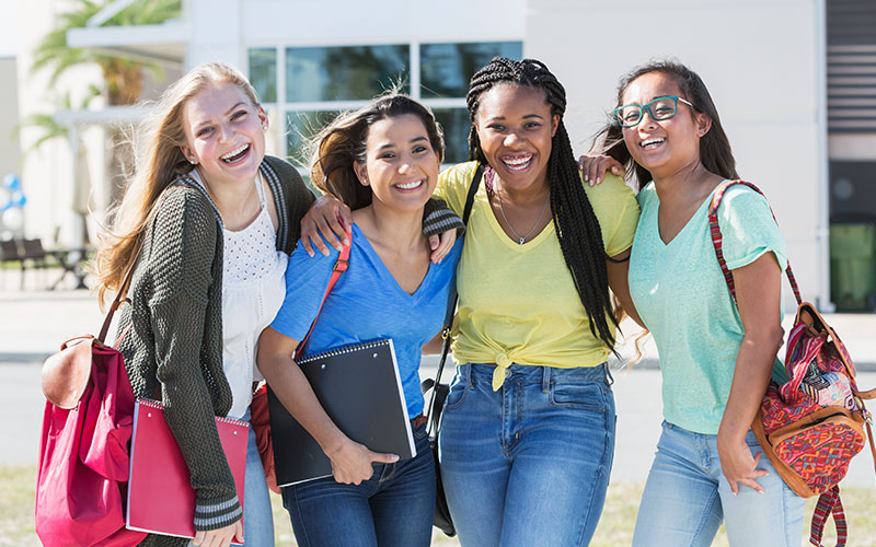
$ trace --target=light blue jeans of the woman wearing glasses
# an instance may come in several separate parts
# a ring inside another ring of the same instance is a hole
[[[716,440],[664,421],[633,545],[706,547],[724,521],[734,547],[799,547],[806,500],[785,485],[765,454],[758,468],[770,474],[757,479],[763,494],[740,485],[734,496],[721,473]],[[746,443],[752,454],[761,451],[751,431]]]

